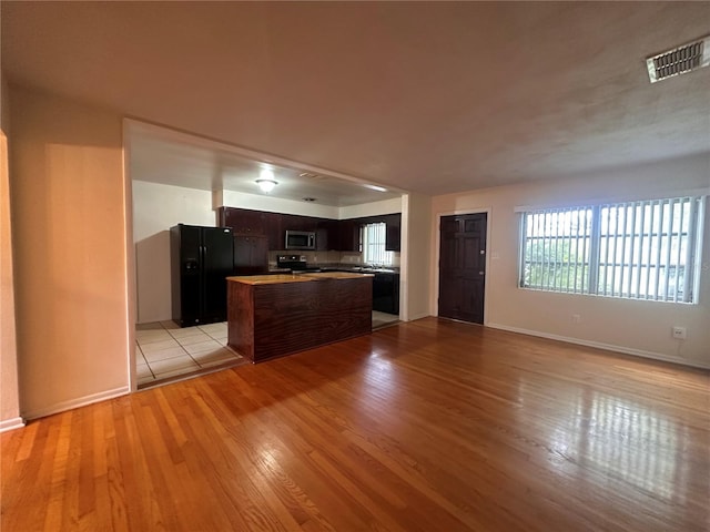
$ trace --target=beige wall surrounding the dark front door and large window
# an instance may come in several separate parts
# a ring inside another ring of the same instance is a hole
[[[432,301],[437,314],[438,221],[442,214],[489,209],[485,323],[491,327],[618,349],[640,356],[710,367],[710,231],[704,234],[700,303],[679,305],[540,293],[517,288],[520,205],[578,205],[589,201],[710,193],[708,155],[628,168],[604,176],[545,182],[437,196],[433,201]],[[706,224],[707,226],[708,224]],[[572,323],[572,315],[580,323]],[[688,328],[684,341],[671,338],[674,325]]]

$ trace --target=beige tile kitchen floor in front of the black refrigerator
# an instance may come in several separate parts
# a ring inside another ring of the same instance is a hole
[[[244,359],[226,347],[226,323],[180,328],[173,321],[135,326],[138,386]]]

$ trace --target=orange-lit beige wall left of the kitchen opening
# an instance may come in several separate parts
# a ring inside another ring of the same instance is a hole
[[[20,407],[125,393],[131,309],[121,117],[11,90]]]

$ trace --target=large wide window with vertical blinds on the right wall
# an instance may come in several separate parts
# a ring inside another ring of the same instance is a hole
[[[703,197],[523,213],[523,288],[697,303]]]

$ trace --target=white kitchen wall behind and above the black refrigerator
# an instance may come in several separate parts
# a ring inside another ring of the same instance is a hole
[[[214,227],[212,193],[133,181],[139,324],[172,319],[170,228],[178,224]]]

